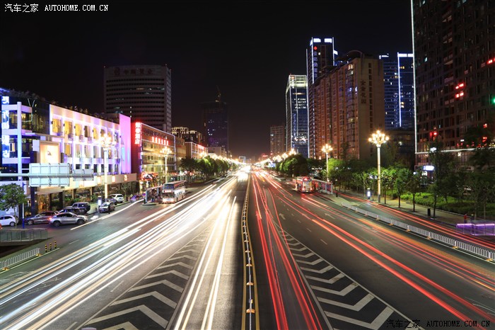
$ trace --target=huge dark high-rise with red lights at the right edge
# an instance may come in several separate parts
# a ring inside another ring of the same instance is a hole
[[[433,140],[465,162],[466,132],[494,132],[494,21],[493,0],[412,0],[417,165]]]

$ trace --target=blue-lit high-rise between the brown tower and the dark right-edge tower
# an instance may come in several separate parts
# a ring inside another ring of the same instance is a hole
[[[385,91],[385,130],[414,130],[412,54],[380,55]]]

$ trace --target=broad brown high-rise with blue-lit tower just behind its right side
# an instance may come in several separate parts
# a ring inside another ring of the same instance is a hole
[[[368,137],[385,130],[383,64],[378,57],[354,50],[341,57],[329,78],[332,154],[367,159],[373,151]]]

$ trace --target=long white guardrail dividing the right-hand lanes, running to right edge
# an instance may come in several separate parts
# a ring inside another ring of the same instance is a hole
[[[376,213],[369,212],[366,210],[362,210],[359,207],[351,206],[347,203],[341,203],[343,207],[346,207],[349,210],[353,210],[354,212],[358,212],[362,215],[365,215],[366,217],[372,217],[375,220],[380,220],[382,222],[385,222],[387,224],[392,224],[396,227],[400,227],[404,230],[407,230],[408,232],[414,232],[416,234],[419,234],[421,236],[424,236],[428,239],[433,239],[435,241],[439,241],[445,245],[452,246],[455,249],[460,249],[466,252],[469,252],[470,254],[474,254],[476,256],[481,256],[482,258],[485,258],[487,260],[494,260],[495,258],[495,251],[489,250],[489,249],[483,249],[480,248],[479,246],[474,246],[472,244],[466,243],[464,241],[458,241],[457,239],[453,239],[451,237],[445,237],[441,234],[437,234],[435,232],[429,232],[426,229],[418,228],[411,226],[410,224],[404,224],[404,222],[400,222],[397,220],[390,219],[389,217],[385,217],[383,215],[377,215]]]

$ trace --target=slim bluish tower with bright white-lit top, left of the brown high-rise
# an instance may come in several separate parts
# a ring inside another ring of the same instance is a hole
[[[308,158],[308,81],[289,75],[286,87],[286,148]]]

